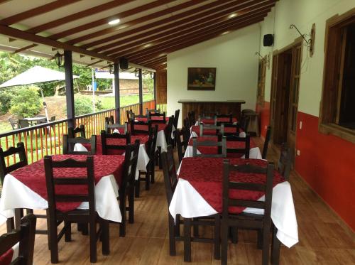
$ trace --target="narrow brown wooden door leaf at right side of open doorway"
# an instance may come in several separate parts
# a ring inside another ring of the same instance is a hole
[[[293,46],[292,75],[290,87],[290,104],[288,111],[288,146],[293,150],[293,161],[296,153],[296,130],[298,112],[298,94],[300,92],[300,71],[302,60],[302,43]]]

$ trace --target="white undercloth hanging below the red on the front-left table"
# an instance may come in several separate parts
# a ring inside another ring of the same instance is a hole
[[[117,198],[119,187],[114,175],[107,175],[95,185],[95,205],[97,213],[105,220],[121,222],[122,216]],[[88,202],[82,202],[78,209],[88,209]],[[28,188],[11,174],[4,179],[0,199],[0,214],[13,217],[13,209],[47,209],[48,201]],[[6,221],[6,220],[5,220]]]

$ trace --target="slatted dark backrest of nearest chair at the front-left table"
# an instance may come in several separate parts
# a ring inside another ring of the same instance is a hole
[[[47,184],[48,210],[49,215],[56,216],[57,202],[89,202],[89,214],[95,213],[95,183],[94,183],[94,157],[87,156],[85,161],[76,161],[68,158],[62,161],[53,161],[51,156],[44,158],[45,182]],[[86,175],[72,175],[71,177],[58,177],[54,174],[55,168],[86,168]],[[61,185],[87,186],[87,193],[80,194],[61,194],[57,193],[55,187]]]

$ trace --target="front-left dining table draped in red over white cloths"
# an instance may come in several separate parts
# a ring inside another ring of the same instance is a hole
[[[86,160],[85,155],[55,155],[53,161],[72,158],[77,161]],[[117,198],[123,178],[124,156],[94,155],[95,206],[97,213],[105,220],[121,222],[121,210]],[[70,178],[86,175],[84,168],[54,168],[56,177]],[[58,193],[82,193],[85,187],[65,185],[58,187]],[[57,209],[70,211],[88,209],[88,202],[58,202]],[[48,195],[45,182],[44,160],[41,159],[16,171],[12,171],[4,178],[1,198],[0,214],[6,218],[13,217],[16,208],[33,210],[48,208]]]

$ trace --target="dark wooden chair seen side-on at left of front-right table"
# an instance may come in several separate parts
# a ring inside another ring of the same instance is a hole
[[[170,206],[171,199],[175,192],[176,185],[178,184],[178,178],[176,176],[176,168],[173,156],[173,146],[169,145],[167,152],[161,154],[161,160],[163,164],[163,175],[165,184],[165,193],[168,202],[168,208]],[[173,216],[170,215],[168,211],[168,224],[169,224],[169,252],[170,256],[175,256],[175,242],[176,240],[184,240],[184,261],[191,261],[191,242],[202,242],[202,243],[212,243],[214,244],[214,258],[219,259],[220,252],[220,218],[219,215],[213,215],[210,217],[196,217],[192,220],[183,220],[184,224],[184,237],[180,236],[180,215],[175,217],[175,222]],[[214,227],[214,238],[202,238],[202,237],[191,237],[191,225],[198,227],[200,225],[213,226]]]

